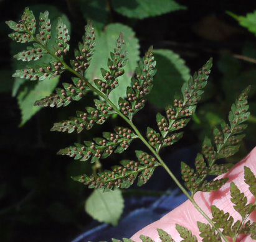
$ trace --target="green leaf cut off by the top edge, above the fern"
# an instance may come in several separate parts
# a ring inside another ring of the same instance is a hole
[[[114,0],[113,9],[126,17],[145,19],[168,12],[186,9],[173,0]]]

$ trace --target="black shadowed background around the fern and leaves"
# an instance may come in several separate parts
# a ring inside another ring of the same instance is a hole
[[[154,48],[169,48],[178,53],[192,72],[199,69],[212,56],[214,66],[211,73],[211,84],[206,89],[207,99],[199,105],[201,124],[190,124],[185,130],[184,138],[178,144],[164,150],[161,154],[168,159],[169,154],[182,152],[189,148],[196,152],[200,150],[204,134],[212,128],[204,120],[204,112],[220,110],[220,117],[225,119],[230,104],[236,94],[246,87],[246,83],[255,87],[255,76],[240,76],[239,85],[230,81],[230,90],[220,88],[224,74],[220,71],[220,60],[223,56],[234,58],[235,54],[248,53],[254,58],[256,37],[239,23],[228,16],[225,11],[245,16],[256,9],[255,1],[177,1],[187,6],[185,11],[176,11],[158,17],[144,20],[128,19],[116,12],[111,12],[109,22],[121,22],[130,25],[140,40],[141,53],[145,53],[150,45]],[[72,25],[70,48],[77,46],[77,40],[83,35],[83,18],[78,1],[0,1],[0,69],[11,71],[13,58],[10,54],[11,32],[6,20],[17,20],[26,6],[34,4],[50,4],[64,12]],[[244,50],[246,50],[244,52]],[[70,53],[73,53],[72,51]],[[235,58],[234,58],[235,59]],[[237,60],[235,60],[237,61]],[[232,65],[232,61],[230,62]],[[255,63],[239,60],[242,70],[255,69]],[[64,81],[65,74],[60,79]],[[0,76],[0,79],[6,76]],[[11,78],[10,78],[11,79]],[[11,87],[12,83],[10,83]],[[60,86],[60,84],[59,84]],[[5,87],[4,87],[5,88]],[[252,114],[255,117],[255,89],[250,94]],[[234,91],[234,92],[233,92]],[[233,99],[230,100],[230,97]],[[15,97],[11,97],[11,89],[1,91],[0,96],[0,241],[70,241],[83,231],[92,221],[84,212],[85,199],[91,190],[70,179],[80,171],[90,173],[90,164],[79,163],[64,156],[57,156],[60,148],[69,146],[81,138],[90,140],[101,135],[103,130],[112,130],[115,125],[121,125],[119,118],[108,120],[101,127],[93,127],[80,135],[49,132],[52,124],[62,117],[69,117],[73,110],[79,110],[85,105],[91,105],[92,96],[87,96],[80,103],[70,104],[65,109],[42,109],[23,127],[18,128],[21,114]],[[217,107],[217,109],[216,109]],[[135,117],[135,123],[145,132],[146,127],[154,127],[155,115],[162,111],[153,104],[146,104]],[[146,121],[146,124],[145,124]],[[247,138],[242,143],[242,151],[234,158],[238,161],[255,146],[255,122],[250,121]],[[202,131],[204,130],[204,131]],[[109,158],[107,166],[128,156],[134,156],[134,149],[143,148],[140,142],[134,142],[129,151]],[[194,157],[190,157],[191,161]],[[233,161],[233,160],[232,160]],[[179,160],[170,164],[171,169],[179,171]],[[152,180],[154,177],[152,178]],[[149,189],[154,180],[142,189]],[[174,184],[158,186],[160,190]],[[153,186],[153,185],[152,185]],[[125,194],[124,194],[125,195]]]

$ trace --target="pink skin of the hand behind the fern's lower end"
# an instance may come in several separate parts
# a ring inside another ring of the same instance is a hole
[[[221,177],[229,177],[229,181],[217,192],[197,192],[194,196],[199,207],[207,214],[208,217],[212,218],[211,215],[211,205],[216,205],[216,207],[224,210],[224,212],[229,212],[230,215],[234,218],[234,221],[241,220],[241,217],[238,212],[233,208],[232,202],[230,202],[230,182],[234,182],[237,187],[244,192],[245,196],[248,198],[248,202],[254,203],[255,197],[250,193],[249,186],[244,182],[244,166],[247,166],[251,171],[256,175],[256,147],[252,150],[247,157],[242,159],[235,167]],[[256,222],[256,211],[254,211],[250,217],[250,221]],[[142,230],[138,231],[131,237],[131,240],[141,241],[140,235],[146,235],[152,238],[155,242],[160,242],[158,236],[157,228],[161,228],[167,233],[169,233],[173,239],[178,242],[183,240],[178,231],[175,228],[176,223],[179,225],[186,226],[189,230],[192,231],[194,235],[197,236],[198,241],[202,241],[199,236],[199,230],[197,228],[197,221],[208,223],[207,220],[202,217],[194,205],[187,200],[184,204],[181,204],[179,207],[175,208],[173,211],[169,212],[160,220],[151,223],[151,225],[146,226]],[[237,242],[250,242],[255,241],[250,238],[250,236],[240,236]]]

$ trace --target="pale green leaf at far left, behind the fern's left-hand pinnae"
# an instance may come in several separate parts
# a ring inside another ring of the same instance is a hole
[[[24,125],[31,117],[36,114],[41,107],[34,106],[34,102],[37,99],[45,97],[52,93],[59,83],[59,76],[55,78],[47,78],[44,81],[40,81],[36,85],[29,83],[19,91],[17,101],[19,108],[21,109],[21,124]]]

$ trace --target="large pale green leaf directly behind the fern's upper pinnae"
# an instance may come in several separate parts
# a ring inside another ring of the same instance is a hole
[[[135,32],[133,32],[130,27],[122,24],[110,24],[107,25],[104,32],[97,32],[96,52],[93,56],[90,68],[88,68],[85,73],[86,78],[90,81],[101,78],[102,72],[100,71],[100,68],[103,67],[107,69],[108,66],[106,65],[106,60],[108,60],[110,52],[113,50],[113,47],[115,47],[116,39],[120,35],[120,30],[125,39],[126,49],[129,50],[129,61],[124,68],[125,74],[118,78],[119,86],[110,94],[110,99],[115,104],[118,103],[120,96],[125,96],[126,87],[130,86],[130,78],[133,76],[137,61],[140,60],[140,52],[138,50],[140,45],[138,44],[138,39],[135,38]]]

